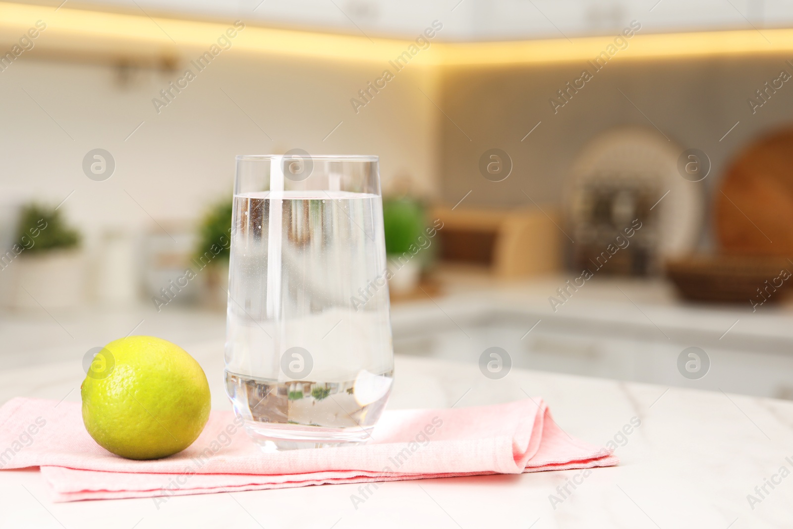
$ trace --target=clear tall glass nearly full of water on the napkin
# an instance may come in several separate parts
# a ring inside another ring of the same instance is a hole
[[[365,443],[393,381],[377,156],[236,159],[226,392],[267,450]]]

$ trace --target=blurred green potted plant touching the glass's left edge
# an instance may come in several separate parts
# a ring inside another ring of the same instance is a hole
[[[228,258],[231,255],[232,201],[217,202],[207,209],[198,225],[198,243],[192,268],[201,274],[204,303],[217,308],[226,306]]]

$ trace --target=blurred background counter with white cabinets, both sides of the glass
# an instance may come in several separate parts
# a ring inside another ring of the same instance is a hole
[[[793,307],[692,305],[662,281],[595,277],[563,305],[567,277],[496,281],[445,271],[437,289],[393,303],[397,354],[479,362],[502,347],[513,366],[699,389],[793,398]],[[130,333],[157,335],[191,351],[222,343],[225,313],[167,305],[0,314],[4,369],[46,362],[80,365],[86,352]],[[710,372],[688,380],[677,356],[701,347]],[[222,357],[222,347],[217,355]]]

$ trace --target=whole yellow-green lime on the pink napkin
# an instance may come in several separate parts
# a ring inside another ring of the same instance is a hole
[[[82,381],[82,422],[100,446],[130,459],[189,447],[209,420],[209,383],[187,352],[154,336],[108,343]]]

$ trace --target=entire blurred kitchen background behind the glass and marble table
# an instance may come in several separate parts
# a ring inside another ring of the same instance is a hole
[[[791,28],[782,0],[0,2],[0,365],[222,342],[234,156],[302,149],[380,156],[397,354],[793,399]]]

